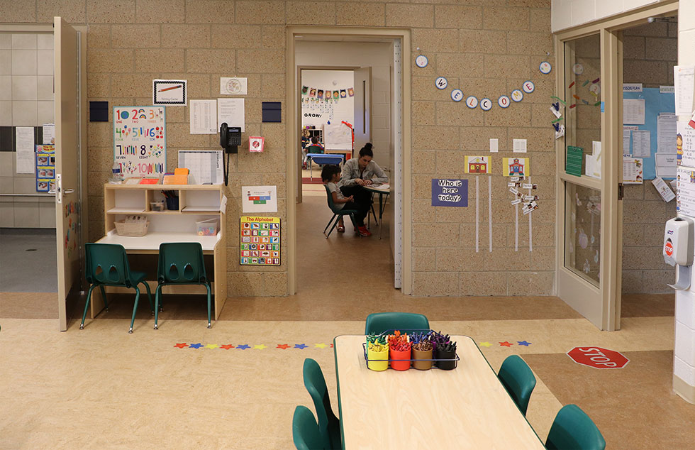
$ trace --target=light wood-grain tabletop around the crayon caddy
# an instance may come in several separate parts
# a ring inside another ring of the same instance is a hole
[[[333,339],[345,449],[545,449],[475,342],[453,371],[374,372],[365,336]]]

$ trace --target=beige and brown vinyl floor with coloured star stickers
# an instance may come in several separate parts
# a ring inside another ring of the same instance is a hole
[[[159,330],[143,306],[128,334],[133,299],[119,295],[84,330],[78,319],[60,333],[55,294],[2,292],[0,449],[291,449],[294,407],[313,410],[304,358],[321,365],[337,414],[333,337],[363,333],[367,314],[384,310],[422,312],[433,329],[472,336],[495,370],[520,354],[538,379],[527,417],[544,441],[560,407],[576,403],[607,449],[693,448],[695,405],[670,384],[672,295],[623,297],[622,329],[610,333],[555,297],[404,297],[391,287],[387,238],[347,230],[326,240],[321,195],[305,195],[298,213],[297,295],[230,298],[211,329],[201,299],[169,296]],[[306,256],[316,253],[326,278],[312,275]],[[365,254],[384,262],[360,263]],[[565,354],[588,345],[630,363],[599,371]]]

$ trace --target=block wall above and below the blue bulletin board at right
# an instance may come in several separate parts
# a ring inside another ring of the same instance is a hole
[[[678,24],[647,23],[623,31],[623,80],[644,87],[673,86]],[[652,136],[656,139],[656,136]],[[673,292],[674,272],[664,263],[664,223],[676,216],[650,180],[626,185],[623,199],[623,293]]]

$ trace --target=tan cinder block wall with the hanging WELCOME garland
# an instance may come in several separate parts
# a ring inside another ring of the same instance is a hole
[[[16,0],[0,3],[0,20],[48,23],[62,16],[89,26],[87,96],[110,105],[150,104],[153,78],[189,80],[191,99],[218,97],[221,76],[248,77],[246,133],[265,136],[266,151],[241,151],[231,166],[228,204],[228,280],[230,295],[285,295],[287,265],[241,268],[238,265],[240,186],[277,185],[278,215],[286,221],[285,114],[282,124],[262,124],[261,101],[282,101],[286,25],[387,26],[413,28],[413,293],[416,295],[549,295],[555,259],[555,154],[549,97],[554,77],[538,65],[554,59],[550,38],[550,0],[444,1],[226,1],[226,0]],[[414,59],[428,56],[418,69]],[[550,53],[550,55],[546,55]],[[489,97],[491,111],[468,109],[439,91],[443,75],[465,96]],[[496,99],[521,88],[527,79],[535,92],[521,103],[500,109]],[[187,108],[167,111],[167,155],[174,167],[177,151],[217,148],[217,137],[189,134]],[[111,119],[111,118],[109,118]],[[91,239],[101,236],[103,184],[112,158],[111,123],[88,124]],[[474,251],[474,177],[468,208],[430,207],[430,180],[462,178],[465,155],[486,155],[489,138],[499,139],[492,155],[493,244],[487,238],[487,180],[481,184],[479,253]],[[540,209],[533,212],[533,252],[528,251],[528,217],[520,218],[519,251],[514,251],[514,208],[501,158],[511,157],[513,138],[528,140],[531,174],[538,183]],[[287,246],[283,246],[287,251]],[[287,254],[287,253],[286,253]],[[285,259],[287,260],[287,259]]]

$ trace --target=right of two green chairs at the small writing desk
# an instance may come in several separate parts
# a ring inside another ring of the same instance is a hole
[[[205,273],[203,247],[199,242],[169,242],[160,244],[155,291],[155,329],[160,313],[162,287],[167,285],[203,285],[208,290],[208,328],[210,322],[210,281]]]

